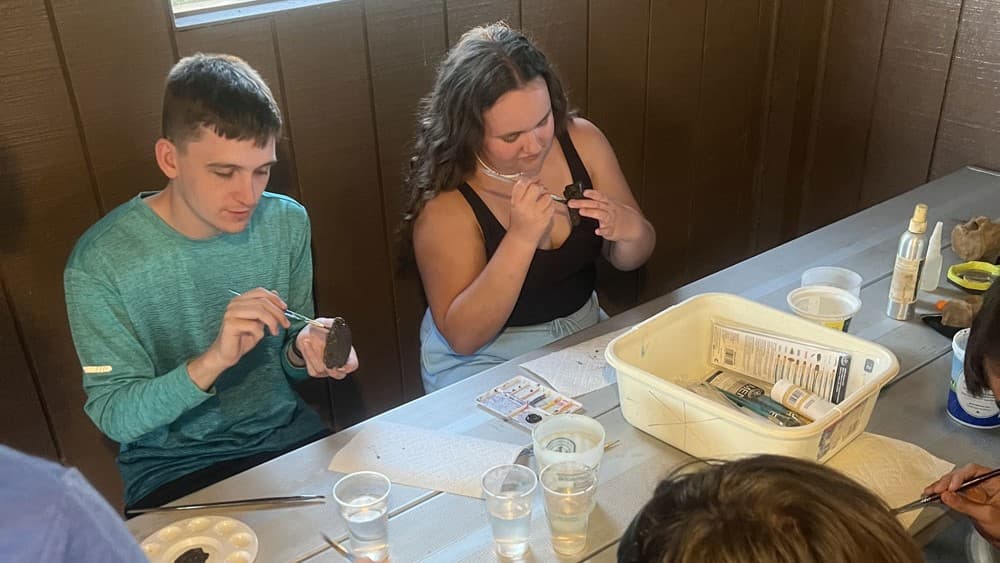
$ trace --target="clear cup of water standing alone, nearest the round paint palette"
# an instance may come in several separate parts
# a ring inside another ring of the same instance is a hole
[[[347,523],[351,551],[359,557],[382,561],[389,555],[389,491],[392,482],[381,473],[358,471],[333,486],[340,516]]]

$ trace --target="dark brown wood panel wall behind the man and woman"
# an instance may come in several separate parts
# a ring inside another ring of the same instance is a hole
[[[361,357],[354,377],[302,390],[338,427],[422,393],[400,183],[416,104],[473,25],[535,38],[656,226],[643,270],[602,268],[612,312],[960,166],[1000,168],[997,0],[317,0],[232,15],[178,27],[169,0],[0,4],[0,440],[80,467],[113,502],[116,445],[82,410],[62,268],[90,224],[162,186],[152,146],[179,56],[242,56],[281,104],[270,189],[309,208],[317,307],[351,321]]]

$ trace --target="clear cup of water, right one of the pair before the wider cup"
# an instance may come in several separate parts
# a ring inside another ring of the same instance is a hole
[[[560,555],[580,553],[587,546],[597,469],[578,461],[561,461],[543,469],[540,480],[552,549]]]

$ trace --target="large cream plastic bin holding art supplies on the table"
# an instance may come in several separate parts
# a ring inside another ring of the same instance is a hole
[[[689,391],[716,369],[709,358],[714,322],[849,352],[844,399],[810,424],[783,428]],[[692,456],[716,459],[769,453],[825,462],[864,431],[879,389],[899,371],[883,346],[723,293],[692,297],[632,327],[605,356],[618,372],[629,424]]]

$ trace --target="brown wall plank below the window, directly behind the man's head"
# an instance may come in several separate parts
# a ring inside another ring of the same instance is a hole
[[[185,29],[177,33],[177,49],[182,57],[199,52],[226,53],[245,60],[260,73],[281,107],[282,115],[287,116],[271,26],[270,18],[259,18]],[[301,199],[295,170],[292,125],[286,122],[285,126],[284,138],[277,147],[278,164],[271,169],[267,189]]]

